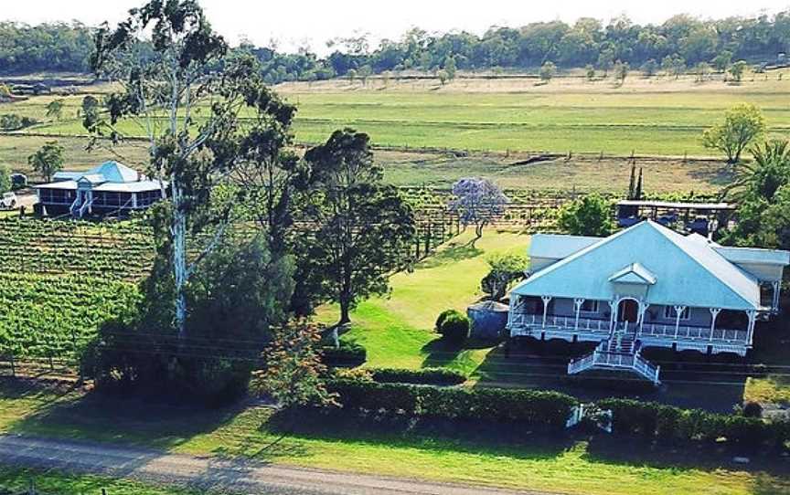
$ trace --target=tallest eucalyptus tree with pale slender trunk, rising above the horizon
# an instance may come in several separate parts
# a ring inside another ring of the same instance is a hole
[[[220,184],[240,165],[240,115],[245,109],[271,121],[289,121],[293,110],[272,102],[260,68],[251,57],[228,57],[196,0],[151,0],[115,28],[96,35],[91,67],[120,90],[105,101],[106,111],[85,117],[95,136],[123,140],[134,122],[150,152],[150,174],[169,192],[166,245],[174,285],[174,325],[187,336],[187,283],[229,225],[232,201],[217,207]],[[209,233],[195,256],[187,240]]]

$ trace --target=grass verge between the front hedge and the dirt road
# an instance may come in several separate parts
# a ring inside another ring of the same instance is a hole
[[[744,468],[694,449],[624,449],[621,441],[607,438],[560,440],[523,431],[504,436],[474,428],[426,435],[397,426],[371,431],[353,422],[305,422],[276,447],[264,448],[282,431],[267,409],[207,412],[10,384],[0,384],[0,395],[0,431],[128,442],[196,455],[585,495],[778,495],[790,490],[785,475],[758,460]]]

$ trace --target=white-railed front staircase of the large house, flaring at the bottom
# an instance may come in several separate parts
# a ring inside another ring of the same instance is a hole
[[[568,374],[580,374],[588,370],[628,371],[658,385],[660,366],[647,361],[640,354],[639,342],[633,332],[613,332],[598,344],[592,354],[568,363]]]

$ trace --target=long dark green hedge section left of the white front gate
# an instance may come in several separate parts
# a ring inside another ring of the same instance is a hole
[[[516,421],[563,427],[577,401],[559,392],[439,388],[339,379],[330,384],[344,408],[436,419]]]

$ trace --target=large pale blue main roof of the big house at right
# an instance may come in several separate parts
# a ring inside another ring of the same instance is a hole
[[[703,237],[704,239],[704,237]],[[530,251],[531,254],[531,251]],[[640,268],[633,269],[635,264]],[[528,296],[612,300],[610,281],[623,271],[655,279],[646,302],[731,310],[761,309],[757,279],[733,265],[707,242],[683,237],[647,220],[541,269],[513,293]],[[629,275],[630,279],[630,275]]]

